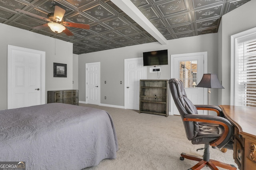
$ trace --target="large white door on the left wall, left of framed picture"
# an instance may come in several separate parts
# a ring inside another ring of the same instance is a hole
[[[45,104],[45,52],[8,45],[8,109]]]

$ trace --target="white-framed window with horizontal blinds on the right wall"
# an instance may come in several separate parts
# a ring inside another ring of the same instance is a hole
[[[256,107],[256,29],[232,35],[231,104]]]

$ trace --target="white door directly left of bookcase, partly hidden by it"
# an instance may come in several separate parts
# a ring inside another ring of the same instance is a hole
[[[143,58],[125,59],[124,70],[124,108],[139,110],[140,80],[144,80],[146,78]]]

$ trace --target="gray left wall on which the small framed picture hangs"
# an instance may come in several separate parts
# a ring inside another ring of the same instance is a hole
[[[62,40],[0,23],[0,110],[7,109],[7,45],[46,52],[46,94],[48,90],[72,89],[73,45]],[[67,64],[67,78],[53,77],[53,63]],[[47,95],[46,101],[47,102]]]

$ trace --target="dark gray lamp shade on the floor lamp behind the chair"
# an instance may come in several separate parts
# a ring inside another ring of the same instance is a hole
[[[204,74],[202,80],[196,87],[224,88],[217,77],[217,74]]]

